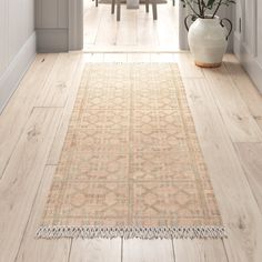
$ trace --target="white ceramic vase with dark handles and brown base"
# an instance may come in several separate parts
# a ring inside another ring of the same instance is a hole
[[[230,31],[224,27],[224,20],[230,23]],[[204,68],[220,67],[228,48],[231,30],[232,23],[228,19],[198,18],[189,28],[188,34],[190,51],[194,57],[195,64]]]

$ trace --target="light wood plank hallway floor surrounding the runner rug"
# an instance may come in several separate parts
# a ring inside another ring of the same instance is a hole
[[[224,240],[36,240],[85,62],[178,62],[228,229]],[[39,54],[0,115],[0,261],[261,262],[262,98],[235,58]]]

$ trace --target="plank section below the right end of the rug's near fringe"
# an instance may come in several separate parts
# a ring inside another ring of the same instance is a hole
[[[175,262],[228,262],[222,240],[173,240]]]

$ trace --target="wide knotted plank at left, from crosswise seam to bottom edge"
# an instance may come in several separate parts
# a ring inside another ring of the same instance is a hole
[[[13,261],[37,195],[61,109],[34,109],[0,182],[1,261]]]

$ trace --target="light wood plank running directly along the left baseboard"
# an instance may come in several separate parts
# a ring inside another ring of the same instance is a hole
[[[57,58],[57,54],[37,56],[29,72],[0,115],[0,178]]]

